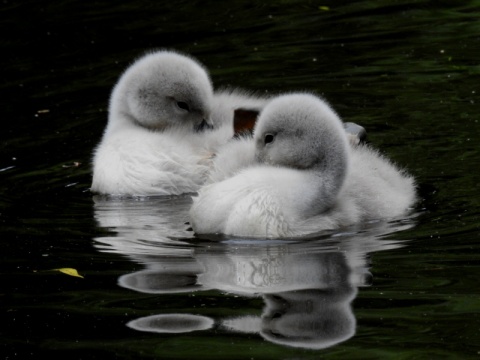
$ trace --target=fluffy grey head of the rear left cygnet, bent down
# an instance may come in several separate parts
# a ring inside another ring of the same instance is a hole
[[[110,116],[126,117],[151,130],[201,130],[210,125],[212,97],[202,65],[176,52],[157,51],[138,59],[121,76],[110,100]]]

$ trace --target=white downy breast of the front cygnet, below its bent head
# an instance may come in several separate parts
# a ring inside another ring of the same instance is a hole
[[[297,236],[297,224],[312,206],[316,183],[313,173],[252,166],[201,188],[190,210],[191,225],[199,234]]]

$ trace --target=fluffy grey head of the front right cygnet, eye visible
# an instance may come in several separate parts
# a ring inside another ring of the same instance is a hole
[[[273,99],[254,129],[260,163],[318,170],[343,182],[348,143],[338,115],[322,99],[306,93]]]

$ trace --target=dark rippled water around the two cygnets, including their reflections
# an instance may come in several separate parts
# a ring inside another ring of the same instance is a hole
[[[480,356],[480,2],[0,11],[1,358]],[[110,90],[159,47],[196,56],[216,86],[322,94],[416,176],[415,215],[218,242],[188,230],[188,197],[92,198]]]

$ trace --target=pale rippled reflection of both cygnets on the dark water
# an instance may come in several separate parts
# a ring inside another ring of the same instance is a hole
[[[120,286],[151,294],[216,289],[262,297],[261,316],[211,319],[194,314],[159,314],[128,326],[150,332],[207,330],[257,333],[277,344],[311,349],[351,338],[356,320],[351,302],[371,281],[367,253],[398,248],[380,236],[408,224],[377,224],[355,233],[303,241],[224,241],[194,238],[187,197],[95,198],[99,225],[116,235],[95,239],[102,251],[128,256],[145,266],[119,278]]]

